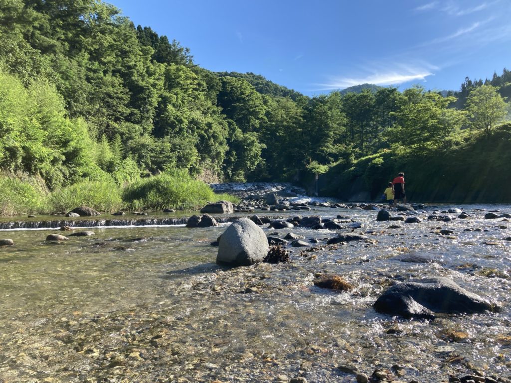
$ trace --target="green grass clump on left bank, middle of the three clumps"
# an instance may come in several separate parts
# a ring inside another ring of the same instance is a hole
[[[111,212],[122,207],[121,191],[113,181],[81,181],[52,193],[50,209],[67,212],[79,206]]]

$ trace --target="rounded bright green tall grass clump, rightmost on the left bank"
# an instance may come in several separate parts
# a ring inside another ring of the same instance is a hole
[[[124,189],[123,199],[132,208],[154,210],[195,210],[207,202],[221,199],[238,202],[232,196],[216,195],[209,185],[182,170],[172,170],[136,181]]]

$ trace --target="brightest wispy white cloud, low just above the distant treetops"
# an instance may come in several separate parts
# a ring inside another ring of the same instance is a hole
[[[434,66],[431,66],[435,68]],[[326,84],[317,84],[318,90],[344,89],[360,84],[400,85],[410,81],[426,81],[426,77],[434,76],[431,70],[425,67],[414,68],[397,64],[394,69],[374,71],[365,77],[334,77]]]

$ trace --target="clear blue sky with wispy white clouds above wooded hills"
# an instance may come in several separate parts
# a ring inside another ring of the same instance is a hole
[[[365,82],[458,90],[511,69],[511,1],[106,0],[212,71],[308,95]]]

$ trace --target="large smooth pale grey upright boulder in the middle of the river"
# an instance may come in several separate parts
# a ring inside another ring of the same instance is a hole
[[[240,218],[223,232],[218,246],[217,264],[257,264],[264,261],[269,250],[263,229],[246,218]]]

